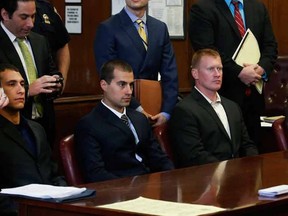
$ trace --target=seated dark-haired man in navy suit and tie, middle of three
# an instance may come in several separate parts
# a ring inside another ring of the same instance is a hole
[[[126,62],[110,60],[101,69],[103,100],[75,130],[76,152],[86,182],[173,169],[153,137],[148,119],[127,107],[133,82],[132,68]]]

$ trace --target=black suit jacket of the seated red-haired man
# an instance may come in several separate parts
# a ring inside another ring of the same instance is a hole
[[[239,106],[225,97],[221,97],[221,104],[228,118],[231,138],[211,104],[195,88],[176,105],[169,123],[176,166],[206,164],[258,153],[248,136]]]

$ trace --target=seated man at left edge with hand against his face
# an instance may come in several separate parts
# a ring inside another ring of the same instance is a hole
[[[9,98],[9,104],[0,109],[0,188],[31,183],[66,185],[51,160],[43,127],[20,114],[25,104],[25,88],[19,70],[10,64],[0,64],[0,83]],[[0,215],[16,214],[14,205],[10,199],[0,197]]]

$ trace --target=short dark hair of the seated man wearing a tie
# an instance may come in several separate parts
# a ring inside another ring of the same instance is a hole
[[[132,67],[127,62],[120,59],[109,60],[101,67],[100,80],[105,80],[108,84],[110,84],[114,78],[114,70],[116,68],[123,72],[133,72]]]

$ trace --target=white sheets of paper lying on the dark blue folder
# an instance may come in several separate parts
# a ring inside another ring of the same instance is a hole
[[[59,199],[84,192],[86,188],[52,186],[45,184],[29,184],[15,188],[1,189],[0,194],[21,195],[32,198]]]

